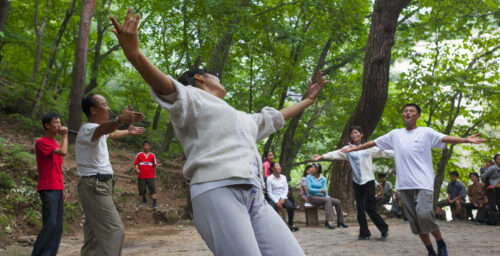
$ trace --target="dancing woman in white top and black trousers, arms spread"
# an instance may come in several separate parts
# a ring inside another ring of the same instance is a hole
[[[355,145],[361,145],[363,140],[363,129],[360,126],[352,126],[350,128],[351,142]],[[346,146],[349,147],[349,146]],[[353,154],[354,153],[354,154]],[[375,201],[375,175],[372,168],[372,158],[384,157],[392,158],[394,153],[392,150],[382,151],[377,147],[356,152],[343,153],[335,150],[326,153],[322,156],[314,155],[311,160],[319,161],[323,159],[330,160],[349,160],[352,169],[352,181],[354,189],[354,197],[356,198],[356,207],[358,212],[359,223],[359,240],[370,239],[370,230],[366,222],[365,211],[372,219],[373,223],[382,233],[382,239],[389,235],[389,226],[384,219],[380,217],[376,209]]]

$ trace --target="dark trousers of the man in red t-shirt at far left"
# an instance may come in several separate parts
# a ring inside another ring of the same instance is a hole
[[[63,194],[62,190],[42,190],[42,230],[36,238],[32,256],[56,255],[62,237]]]

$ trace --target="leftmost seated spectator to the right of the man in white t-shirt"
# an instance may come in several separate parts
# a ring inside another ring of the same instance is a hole
[[[441,215],[441,208],[443,206],[451,205],[456,206],[456,216],[455,220],[460,220],[460,213],[462,212],[462,206],[465,204],[465,185],[458,181],[458,172],[450,172],[450,183],[448,183],[448,188],[446,192],[448,193],[448,198],[440,200],[436,206],[436,218]],[[453,216],[452,216],[453,217]]]

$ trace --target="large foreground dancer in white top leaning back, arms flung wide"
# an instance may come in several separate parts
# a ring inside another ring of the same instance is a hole
[[[113,17],[113,33],[123,53],[165,108],[186,155],[194,223],[215,255],[304,255],[262,192],[262,161],[256,141],[283,127],[313,104],[328,81],[318,73],[307,97],[277,111],[247,114],[224,101],[219,79],[202,69],[185,72],[179,83],[164,75],[140,51],[139,15],[129,9],[123,25]]]

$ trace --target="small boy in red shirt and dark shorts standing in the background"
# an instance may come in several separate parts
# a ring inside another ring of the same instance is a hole
[[[156,177],[156,156],[155,154],[149,152],[151,148],[151,143],[149,141],[144,141],[142,143],[142,149],[144,152],[140,152],[135,157],[135,170],[139,174],[139,196],[142,196],[142,203],[147,204],[146,200],[146,186],[148,187],[149,194],[153,198],[153,209],[156,209],[156,189],[155,189],[155,177]]]

